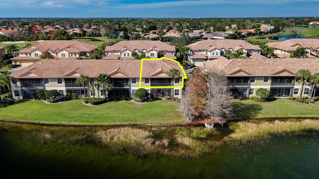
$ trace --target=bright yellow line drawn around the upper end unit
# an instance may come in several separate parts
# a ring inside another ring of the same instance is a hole
[[[143,61],[144,61],[144,60],[161,60],[161,59],[173,61],[173,62],[177,63],[179,67],[182,68],[183,75],[184,75],[184,77],[182,77],[182,86],[141,86],[141,84],[142,84]],[[143,58],[143,59],[141,60],[140,79],[139,79],[139,83],[138,83],[138,87],[139,87],[139,88],[144,88],[144,89],[148,89],[148,88],[183,88],[183,87],[184,87],[184,79],[187,79],[187,75],[186,75],[186,73],[185,73],[185,70],[184,70],[184,68],[182,67],[182,65],[181,65],[178,61],[176,61],[176,60],[173,60],[173,59],[170,59],[170,58],[167,58],[167,57],[161,57],[161,58]]]

